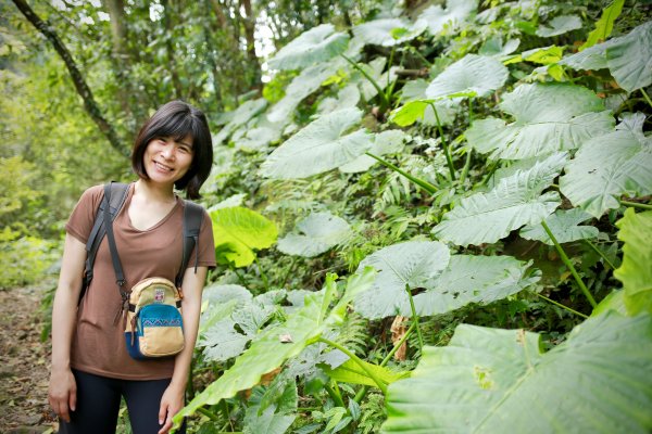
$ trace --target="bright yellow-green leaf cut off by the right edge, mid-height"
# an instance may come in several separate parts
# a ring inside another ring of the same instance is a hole
[[[637,214],[627,208],[616,226],[625,245],[623,264],[614,277],[625,288],[627,312],[652,312],[652,210]]]

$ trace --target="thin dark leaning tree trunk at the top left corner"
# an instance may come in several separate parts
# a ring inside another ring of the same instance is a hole
[[[98,103],[96,102],[92,92],[90,91],[90,88],[88,87],[86,80],[82,76],[82,73],[79,72],[79,68],[73,60],[73,56],[71,55],[70,51],[63,44],[61,38],[59,38],[59,35],[57,35],[54,30],[47,23],[45,23],[34,12],[34,10],[32,10],[27,2],[25,2],[24,0],[12,1],[16,5],[16,8],[18,8],[21,13],[25,15],[27,21],[32,23],[32,25],[36,27],[36,29],[39,30],[50,41],[50,43],[52,43],[54,50],[57,50],[57,52],[63,60],[63,63],[67,67],[68,73],[71,74],[71,78],[73,79],[73,84],[75,85],[75,89],[77,90],[77,93],[84,100],[84,107],[86,108],[86,112],[90,115],[90,117],[96,123],[100,131],[102,131],[104,137],[109,140],[111,146],[113,146],[121,154],[128,156],[129,150],[123,145],[123,142],[117,137],[117,133],[115,132],[113,126],[109,124],[109,122],[102,115],[102,112],[100,111],[100,107],[98,106]]]

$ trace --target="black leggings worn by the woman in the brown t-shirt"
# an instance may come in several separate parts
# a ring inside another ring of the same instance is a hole
[[[171,379],[117,380],[73,370],[77,382],[77,408],[71,423],[60,419],[61,434],[113,434],[117,425],[120,398],[125,397],[134,434],[156,434],[163,392]],[[186,432],[186,423],[177,433]]]

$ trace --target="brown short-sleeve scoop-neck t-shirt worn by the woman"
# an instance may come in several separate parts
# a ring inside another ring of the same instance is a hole
[[[127,197],[113,222],[115,244],[125,273],[125,288],[139,281],[162,277],[174,282],[179,271],[183,253],[183,200],[177,197],[174,208],[155,226],[138,230],[131,226],[127,209],[134,194],[129,186]],[[102,186],[84,192],[66,231],[86,243],[95,215],[104,193]],[[196,255],[196,251],[198,255]],[[196,263],[196,256],[198,256]],[[215,247],[211,219],[204,210],[198,248],[193,250],[188,267],[215,266]],[[160,380],[172,376],[174,358],[135,360],[128,354],[124,322],[114,323],[121,296],[106,238],[102,240],[93,267],[93,278],[77,311],[71,348],[71,367],[79,371],[124,380]]]

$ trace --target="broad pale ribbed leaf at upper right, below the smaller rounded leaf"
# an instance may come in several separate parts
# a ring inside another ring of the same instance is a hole
[[[573,85],[523,85],[504,97],[516,122],[489,117],[466,130],[468,143],[498,159],[523,159],[579,148],[613,129],[614,119],[591,90]]]

